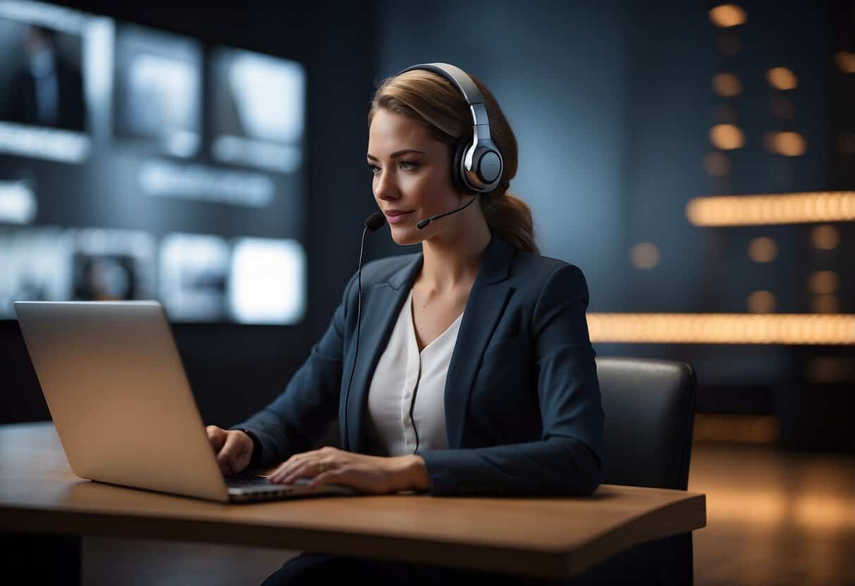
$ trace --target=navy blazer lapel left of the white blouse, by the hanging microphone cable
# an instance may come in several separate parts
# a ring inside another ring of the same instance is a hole
[[[345,449],[351,452],[363,452],[366,448],[364,418],[368,407],[369,381],[374,377],[374,369],[377,367],[377,362],[380,361],[380,355],[386,349],[386,344],[392,335],[392,328],[398,320],[398,314],[404,305],[407,294],[410,292],[416,273],[422,268],[423,261],[424,257],[418,255],[414,261],[394,273],[386,283],[374,284],[370,293],[363,289],[362,324],[359,326],[359,355],[357,356],[356,369],[353,372],[351,395],[345,406],[347,408],[347,420],[352,422],[348,425]],[[353,367],[352,364],[351,359],[349,361],[351,368]],[[342,381],[342,390],[345,393],[348,374],[345,371]]]

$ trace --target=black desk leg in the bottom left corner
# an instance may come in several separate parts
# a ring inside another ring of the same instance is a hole
[[[0,532],[0,552],[4,571],[23,583],[80,586],[80,536]]]

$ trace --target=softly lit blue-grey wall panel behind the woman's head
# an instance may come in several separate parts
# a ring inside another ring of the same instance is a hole
[[[510,191],[532,208],[542,254],[581,267],[592,311],[626,296],[624,4],[383,1],[376,13],[378,80],[451,62],[491,89],[519,144]]]

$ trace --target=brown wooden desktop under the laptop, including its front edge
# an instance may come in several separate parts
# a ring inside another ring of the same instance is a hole
[[[224,505],[92,483],[50,423],[0,426],[0,530],[145,537],[570,577],[706,524],[705,495],[604,484],[587,498],[383,495]]]

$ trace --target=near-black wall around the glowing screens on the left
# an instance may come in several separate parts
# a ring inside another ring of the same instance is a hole
[[[321,336],[355,272],[362,223],[373,211],[363,153],[372,91],[369,3],[65,2],[107,15],[303,62],[308,75],[309,304],[296,326],[175,325],[203,419],[231,425],[286,384]],[[283,221],[286,221],[283,219]],[[370,251],[367,257],[371,257]],[[0,423],[47,419],[15,321],[0,321]]]

